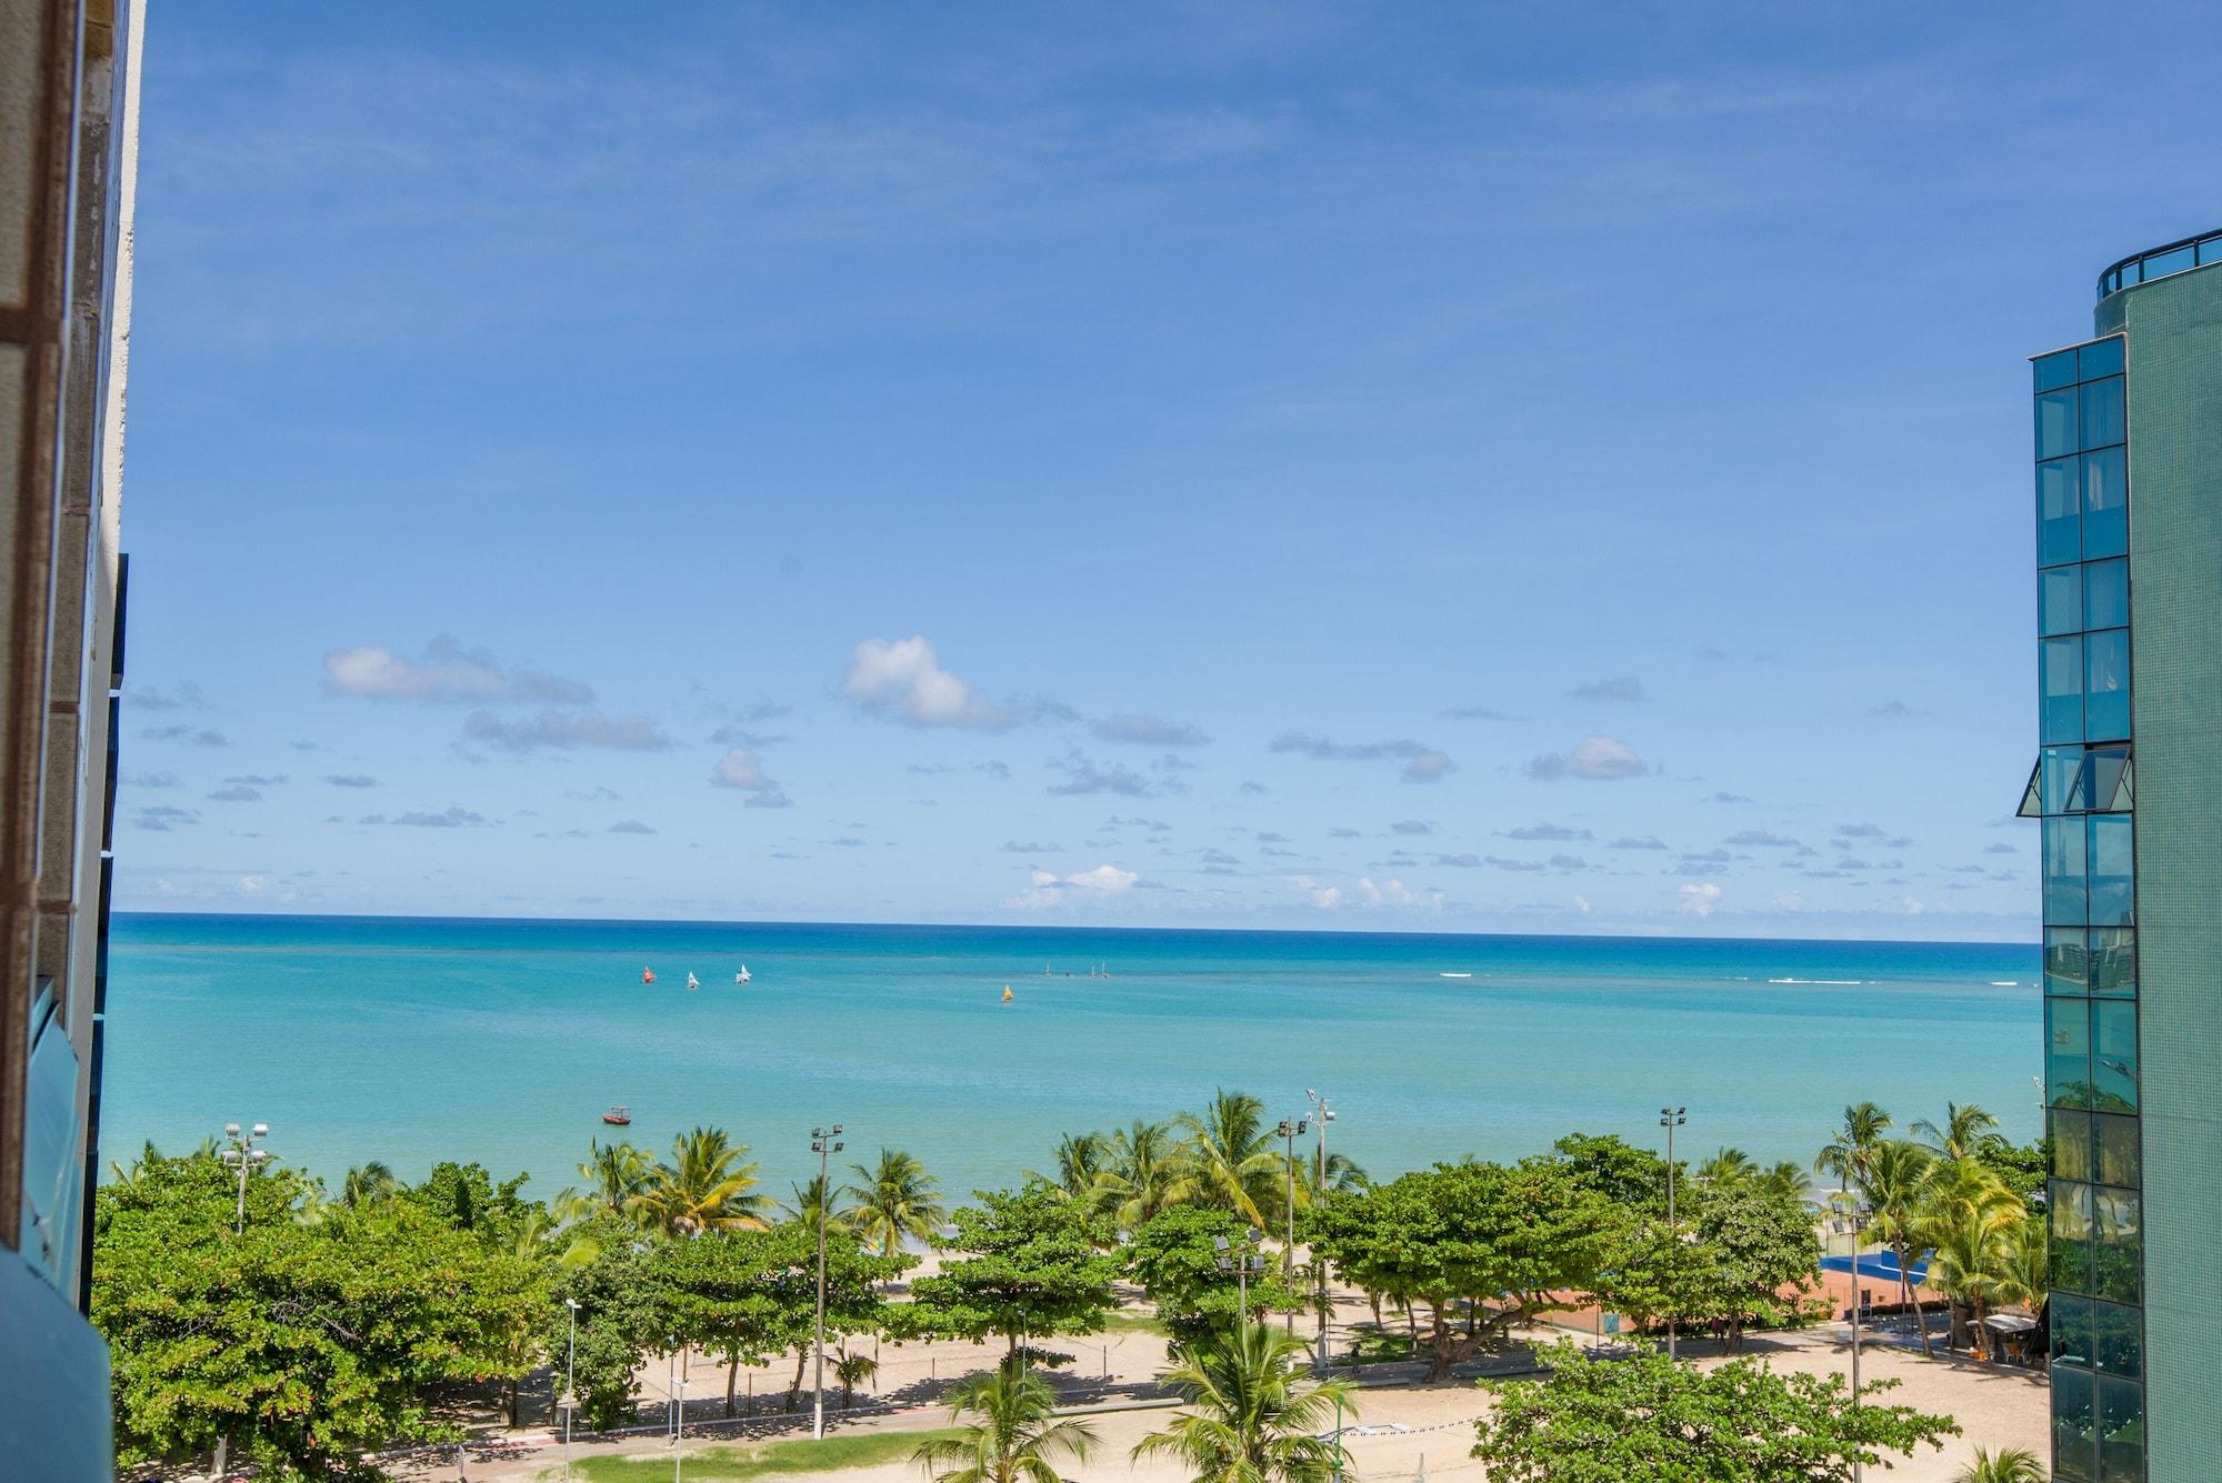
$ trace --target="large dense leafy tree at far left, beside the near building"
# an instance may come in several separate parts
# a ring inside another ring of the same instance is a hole
[[[351,1476],[369,1447],[453,1430],[438,1385],[520,1372],[511,1334],[547,1303],[542,1272],[409,1199],[293,1219],[307,1192],[251,1181],[236,1237],[213,1157],[102,1190],[93,1321],[124,1461],[229,1443],[280,1474]]]

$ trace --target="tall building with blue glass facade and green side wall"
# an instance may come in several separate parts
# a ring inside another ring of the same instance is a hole
[[[2053,1479],[2222,1479],[2222,233],[2031,362]]]

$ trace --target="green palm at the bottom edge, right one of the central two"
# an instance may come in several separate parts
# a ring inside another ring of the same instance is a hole
[[[1307,1345],[1269,1323],[1240,1323],[1164,1374],[1189,1408],[1144,1436],[1135,1459],[1169,1456],[1195,1483],[1327,1483],[1349,1456],[1322,1441],[1338,1412],[1355,1412],[1347,1381],[1298,1390]]]

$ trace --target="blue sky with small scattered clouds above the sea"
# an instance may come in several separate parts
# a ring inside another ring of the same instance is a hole
[[[162,7],[118,906],[2035,937],[2089,7]]]

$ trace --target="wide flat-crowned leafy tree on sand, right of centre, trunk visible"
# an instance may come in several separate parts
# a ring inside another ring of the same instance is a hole
[[[1440,1381],[1513,1323],[1562,1308],[1562,1292],[1589,1290],[1622,1228],[1562,1159],[1524,1159],[1438,1163],[1338,1197],[1311,1221],[1311,1239],[1358,1285],[1427,1303],[1429,1381]]]

